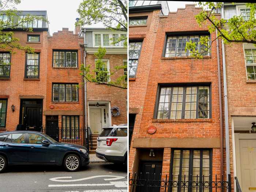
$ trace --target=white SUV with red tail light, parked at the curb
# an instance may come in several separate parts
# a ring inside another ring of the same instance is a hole
[[[127,166],[127,124],[103,128],[97,138],[96,156],[108,162]]]

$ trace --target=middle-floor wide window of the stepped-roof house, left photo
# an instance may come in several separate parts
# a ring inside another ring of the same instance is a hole
[[[53,87],[52,101],[78,101],[78,84],[56,84]]]

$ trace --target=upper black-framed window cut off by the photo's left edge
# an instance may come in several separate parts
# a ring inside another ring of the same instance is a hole
[[[11,69],[11,54],[0,53],[0,78],[9,78]]]

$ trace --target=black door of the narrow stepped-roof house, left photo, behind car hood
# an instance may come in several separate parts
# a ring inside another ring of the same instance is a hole
[[[58,116],[46,116],[46,135],[59,142]]]

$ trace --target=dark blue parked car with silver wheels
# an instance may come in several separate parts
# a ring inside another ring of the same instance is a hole
[[[11,165],[63,165],[75,172],[88,163],[89,151],[85,147],[56,142],[44,133],[0,133],[0,173]]]

